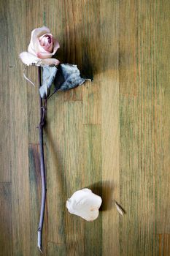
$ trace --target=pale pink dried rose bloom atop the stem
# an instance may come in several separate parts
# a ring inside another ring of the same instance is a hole
[[[57,59],[51,59],[60,47],[58,41],[53,38],[50,29],[43,26],[31,32],[31,41],[28,52],[20,53],[20,59],[26,65],[58,65]]]

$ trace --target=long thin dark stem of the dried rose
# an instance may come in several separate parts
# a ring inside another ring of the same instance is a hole
[[[39,87],[42,85],[41,82],[41,67],[38,67],[38,78]],[[42,252],[42,227],[45,216],[45,198],[46,198],[46,182],[45,182],[45,157],[44,157],[44,144],[43,144],[43,127],[45,119],[45,107],[47,100],[45,101],[45,106],[42,105],[42,98],[39,95],[39,108],[40,108],[40,122],[39,122],[39,151],[40,151],[40,171],[42,178],[42,204],[39,217],[39,227],[38,227],[38,248]]]

